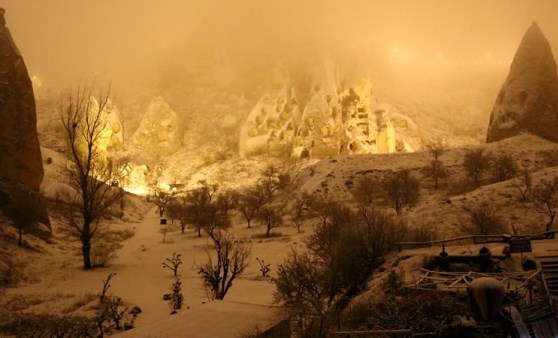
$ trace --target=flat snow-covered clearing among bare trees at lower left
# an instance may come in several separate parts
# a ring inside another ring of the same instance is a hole
[[[274,305],[274,285],[269,278],[261,277],[255,258],[270,263],[274,269],[282,262],[287,250],[300,245],[301,235],[296,233],[295,228],[285,227],[279,230],[282,233],[280,237],[252,238],[259,237],[257,235],[263,234],[265,229],[260,226],[247,229],[241,219],[235,223],[232,229],[235,238],[250,242],[252,258],[245,275],[234,282],[223,302],[206,304],[210,299],[195,268],[196,263],[206,259],[211,249],[208,238],[199,238],[192,230],[187,230],[185,234],[177,230],[167,233],[163,242],[163,234],[159,232],[159,215],[154,207],[150,207],[140,220],[127,223],[117,221],[111,225],[112,230],[131,229],[134,236],[122,242],[123,247],[118,250],[117,257],[105,268],[82,270],[77,242],[68,243],[55,232],[55,244],[45,248],[42,257],[36,257],[35,263],[29,266],[28,273],[36,276],[36,279],[26,285],[7,289],[5,297],[14,299],[23,296],[31,303],[33,299],[48,299],[33,306],[32,311],[62,314],[80,297],[99,293],[101,281],[109,273],[116,272],[110,292],[122,297],[130,307],[137,305],[142,309],[136,320],[139,329],[132,331],[132,336],[173,337],[176,336],[173,330],[177,330],[177,325],[200,329],[205,325],[206,329],[212,330],[201,330],[199,337],[208,336],[203,332],[212,332],[209,336],[236,337],[239,332],[252,330],[256,326],[265,328],[270,320],[277,317],[279,310],[270,307]],[[183,265],[179,268],[178,277],[182,281],[185,304],[178,314],[172,315],[176,319],[170,320],[172,309],[169,301],[163,300],[163,295],[170,293],[174,276],[171,270],[162,267],[162,262],[172,257],[173,252],[182,254]],[[219,313],[224,316],[221,323],[204,319],[211,314],[218,318]]]

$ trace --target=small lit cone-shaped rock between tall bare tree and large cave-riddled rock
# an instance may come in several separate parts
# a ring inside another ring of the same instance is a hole
[[[178,116],[162,97],[151,100],[138,130],[134,144],[152,156],[166,156],[176,152],[182,142]]]

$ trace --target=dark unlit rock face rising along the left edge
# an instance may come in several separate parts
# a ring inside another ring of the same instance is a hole
[[[0,177],[38,191],[43,175],[33,85],[0,8]]]

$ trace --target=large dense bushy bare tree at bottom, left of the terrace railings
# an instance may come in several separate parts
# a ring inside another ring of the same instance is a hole
[[[276,302],[285,302],[303,315],[303,337],[321,337],[324,316],[343,295],[357,292],[405,234],[405,225],[381,212],[361,207],[358,212],[329,205],[319,213],[308,239],[308,251],[292,250],[277,267]],[[313,316],[313,317],[311,317]]]

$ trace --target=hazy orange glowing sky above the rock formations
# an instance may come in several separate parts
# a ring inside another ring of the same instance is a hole
[[[406,67],[507,64],[532,21],[558,53],[556,0],[0,0],[0,7],[30,73],[45,79],[147,73],[206,49],[247,60],[373,49]]]

